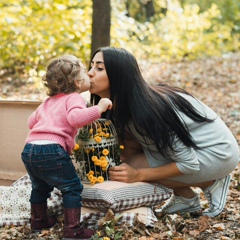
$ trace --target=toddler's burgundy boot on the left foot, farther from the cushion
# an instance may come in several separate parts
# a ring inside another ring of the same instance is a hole
[[[47,216],[47,204],[31,204],[31,229],[34,232],[40,232],[43,229],[49,229],[56,224],[55,217]]]

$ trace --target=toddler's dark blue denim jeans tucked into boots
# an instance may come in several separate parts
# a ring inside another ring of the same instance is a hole
[[[56,187],[62,193],[64,208],[81,207],[83,185],[69,154],[59,144],[28,143],[22,161],[32,181],[31,203],[46,203]]]

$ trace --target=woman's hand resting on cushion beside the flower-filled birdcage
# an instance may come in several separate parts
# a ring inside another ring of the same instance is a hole
[[[139,182],[138,170],[129,166],[126,163],[122,163],[119,166],[111,167],[109,169],[109,176],[112,181],[133,183]]]

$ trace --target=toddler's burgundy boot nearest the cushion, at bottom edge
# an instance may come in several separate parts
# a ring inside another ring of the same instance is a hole
[[[63,240],[90,239],[94,235],[92,229],[80,227],[80,208],[65,208],[64,209],[64,229]]]

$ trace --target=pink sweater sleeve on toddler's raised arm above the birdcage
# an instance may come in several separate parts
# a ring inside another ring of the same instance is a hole
[[[84,99],[78,94],[68,101],[67,120],[72,127],[81,128],[99,119],[101,114],[98,106],[86,107]]]

